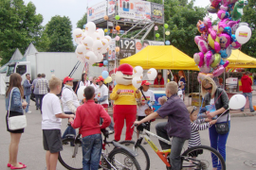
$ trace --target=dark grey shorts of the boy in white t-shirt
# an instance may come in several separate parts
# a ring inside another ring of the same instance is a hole
[[[63,150],[61,129],[43,129],[43,144],[45,150],[57,153]]]

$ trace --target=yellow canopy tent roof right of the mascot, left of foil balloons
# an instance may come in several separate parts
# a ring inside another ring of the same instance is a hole
[[[129,58],[120,59],[120,64],[122,63],[128,63],[133,67],[141,66],[143,69],[199,71],[194,60],[173,45],[149,45]]]

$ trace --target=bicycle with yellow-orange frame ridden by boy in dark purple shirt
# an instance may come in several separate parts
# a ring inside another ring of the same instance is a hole
[[[171,149],[159,150],[149,136],[153,136],[166,144],[172,144],[172,143],[168,140],[165,140],[157,136],[155,133],[146,130],[146,126],[147,126],[147,123],[141,124],[137,127],[137,130],[141,135],[136,142],[122,141],[120,142],[120,144],[129,144],[130,147],[132,147],[132,149],[134,149],[137,152],[138,154],[137,160],[139,160],[139,162],[142,161],[142,163],[140,163],[141,169],[149,170],[150,169],[149,155],[146,149],[141,145],[142,140],[145,139],[145,141],[153,148],[156,155],[166,164],[167,170],[171,169],[171,163],[169,161],[169,155],[171,153]],[[214,148],[207,145],[197,145],[185,150],[183,154],[181,154],[182,170],[210,169],[213,167],[211,158],[217,159],[216,161],[219,162],[218,168],[221,167],[222,170],[226,170],[226,163],[223,157],[220,155],[220,153]]]

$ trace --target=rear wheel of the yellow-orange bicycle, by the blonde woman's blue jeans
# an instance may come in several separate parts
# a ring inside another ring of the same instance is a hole
[[[206,170],[213,167],[226,170],[226,163],[221,154],[210,146],[193,146],[182,154],[182,170]]]

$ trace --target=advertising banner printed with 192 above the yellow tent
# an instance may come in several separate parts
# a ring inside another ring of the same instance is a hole
[[[143,48],[148,45],[164,45],[164,42],[155,42],[155,41],[140,41],[140,40],[131,40],[131,39],[120,39],[119,42],[119,59],[125,59],[130,56],[137,54]]]

